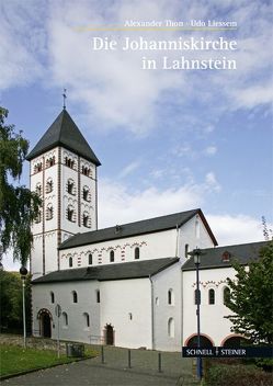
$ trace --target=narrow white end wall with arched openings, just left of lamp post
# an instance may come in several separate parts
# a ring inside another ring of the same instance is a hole
[[[180,263],[152,276],[152,283],[155,349],[180,351],[182,347]]]

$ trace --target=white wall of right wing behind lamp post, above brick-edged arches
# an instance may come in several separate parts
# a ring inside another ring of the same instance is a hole
[[[200,271],[201,291],[201,333],[212,340],[214,345],[220,345],[230,332],[231,323],[225,316],[230,315],[229,308],[224,305],[224,288],[227,286],[227,277],[235,277],[231,268],[211,269]],[[208,291],[215,291],[215,304],[208,304]],[[183,272],[183,344],[187,339],[196,334],[196,305],[194,304],[194,291],[196,290],[195,271]]]

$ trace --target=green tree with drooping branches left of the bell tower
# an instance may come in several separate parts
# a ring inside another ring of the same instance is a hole
[[[29,141],[22,132],[14,132],[14,125],[5,125],[8,113],[0,107],[0,241],[3,252],[12,248],[14,260],[25,265],[33,241],[31,225],[41,200],[19,184]]]

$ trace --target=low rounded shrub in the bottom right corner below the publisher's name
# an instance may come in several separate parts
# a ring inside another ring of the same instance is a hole
[[[272,386],[273,376],[262,370],[246,365],[217,365],[208,368],[207,386]]]

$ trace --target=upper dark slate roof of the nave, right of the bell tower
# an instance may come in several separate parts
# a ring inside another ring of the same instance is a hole
[[[123,225],[118,225],[117,227],[111,227],[105,229],[92,230],[83,234],[77,234],[70,237],[69,239],[67,239],[66,241],[64,241],[60,245],[59,249],[61,250],[61,249],[75,248],[75,247],[91,245],[94,242],[121,239],[121,238],[135,236],[135,235],[145,235],[145,234],[151,234],[156,231],[173,229],[173,228],[177,228],[177,226],[179,227],[182,226],[196,214],[198,214],[202,220],[204,222],[204,225],[209,236],[212,237],[214,245],[217,246],[217,241],[202,211],[193,209],[193,211],[175,213],[172,215],[144,219],[140,222],[123,224]]]

